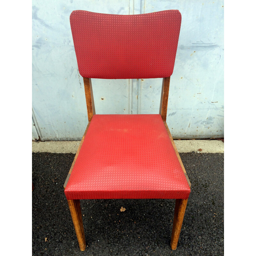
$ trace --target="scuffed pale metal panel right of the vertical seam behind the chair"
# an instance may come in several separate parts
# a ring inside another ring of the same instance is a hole
[[[182,16],[166,120],[173,138],[223,137],[223,1],[142,2],[144,13],[177,9]],[[141,81],[141,114],[158,113],[161,85],[160,79]]]

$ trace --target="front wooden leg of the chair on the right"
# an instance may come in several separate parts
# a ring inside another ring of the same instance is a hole
[[[171,238],[172,250],[176,250],[177,248],[187,202],[188,199],[176,199]]]

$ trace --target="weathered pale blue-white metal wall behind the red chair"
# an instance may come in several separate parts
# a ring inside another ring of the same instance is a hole
[[[180,10],[167,124],[178,139],[223,137],[223,1],[33,0],[32,5],[33,140],[80,140],[88,123],[69,25],[73,10],[127,15]],[[159,113],[161,78],[92,79],[92,86],[97,114]]]

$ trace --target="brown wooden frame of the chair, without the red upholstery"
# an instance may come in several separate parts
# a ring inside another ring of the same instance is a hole
[[[162,84],[162,92],[161,92],[161,101],[160,101],[160,109],[159,114],[162,116],[165,128],[168,132],[169,138],[172,142],[172,146],[175,150],[175,153],[179,159],[181,168],[186,176],[186,179],[188,181],[189,187],[191,187],[191,183],[188,179],[187,172],[185,171],[184,165],[182,164],[182,161],[180,159],[180,155],[178,153],[178,150],[175,146],[175,143],[172,139],[171,132],[166,124],[166,115],[167,115],[167,104],[168,104],[168,95],[169,95],[169,85],[170,85],[170,76],[163,78],[163,84]],[[71,165],[71,168],[68,172],[68,176],[66,178],[66,181],[64,183],[64,188],[66,188],[66,185],[68,183],[68,179],[70,177],[70,174],[73,170],[73,167],[76,163],[77,156],[80,152],[80,149],[82,147],[82,144],[84,142],[84,137],[86,135],[86,132],[88,130],[88,127],[90,126],[92,116],[95,115],[95,107],[94,107],[94,100],[93,100],[93,93],[92,93],[92,81],[91,78],[85,78],[84,77],[84,91],[85,91],[85,98],[86,98],[86,105],[87,105],[87,113],[88,113],[88,125],[86,127],[86,130],[84,132],[84,136],[81,140],[81,143],[79,145],[79,148],[76,152],[76,156],[74,158],[74,161]],[[176,199],[175,203],[175,210],[174,210],[174,218],[173,218],[173,226],[172,226],[172,238],[171,238],[171,248],[172,250],[176,250],[179,236],[180,236],[180,230],[186,210],[188,199]],[[78,240],[78,244],[81,251],[85,250],[86,243],[85,243],[85,236],[84,236],[84,226],[83,226],[83,220],[82,220],[82,213],[81,213],[81,207],[80,207],[80,200],[68,200],[68,206],[71,213],[71,217],[74,223],[76,236]]]

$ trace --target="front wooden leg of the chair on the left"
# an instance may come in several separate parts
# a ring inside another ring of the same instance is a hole
[[[68,200],[68,206],[71,213],[71,217],[76,230],[76,237],[81,251],[85,250],[85,237],[84,237],[84,226],[82,220],[82,212],[80,207],[80,200]]]

